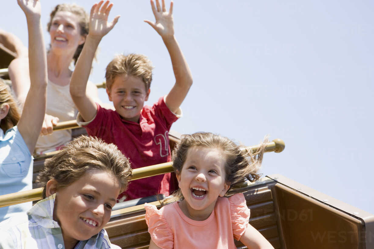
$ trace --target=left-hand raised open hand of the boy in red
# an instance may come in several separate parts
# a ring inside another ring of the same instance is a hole
[[[90,23],[89,23],[89,35],[95,38],[102,38],[104,35],[108,34],[109,31],[116,25],[120,16],[116,16],[113,21],[108,22],[108,16],[113,3],[106,1],[99,1],[99,3],[93,4],[90,13]],[[101,6],[102,5],[102,6]],[[101,8],[100,8],[101,7]]]

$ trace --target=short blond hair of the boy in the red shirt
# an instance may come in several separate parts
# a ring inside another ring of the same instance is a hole
[[[148,91],[152,81],[152,69],[152,62],[145,55],[117,55],[107,66],[105,72],[106,87],[110,91],[114,78],[124,74],[140,77],[144,82],[145,91]]]

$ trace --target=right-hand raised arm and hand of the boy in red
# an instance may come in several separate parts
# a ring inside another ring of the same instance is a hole
[[[174,36],[174,22],[172,16],[173,1],[170,3],[169,12],[166,11],[165,0],[162,0],[162,6],[160,6],[159,0],[156,0],[156,6],[153,0],[151,0],[151,6],[156,22],[148,20],[144,20],[144,22],[147,22],[159,33],[169,51],[175,76],[175,84],[166,96],[165,102],[168,108],[176,113],[186,97],[188,90],[190,90],[192,75],[182,50]]]

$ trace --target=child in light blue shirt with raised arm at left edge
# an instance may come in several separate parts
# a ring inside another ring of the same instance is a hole
[[[0,82],[0,195],[32,189],[33,156],[46,109],[46,49],[39,1],[18,0],[28,28],[30,90],[22,115],[7,85]],[[37,96],[37,99],[35,99]],[[25,212],[31,202],[0,208],[0,221]]]

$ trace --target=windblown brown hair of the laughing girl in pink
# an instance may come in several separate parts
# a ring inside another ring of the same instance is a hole
[[[183,135],[181,141],[175,146],[172,161],[176,174],[180,174],[183,164],[186,161],[187,152],[190,147],[214,148],[220,150],[226,157],[226,181],[232,187],[235,183],[248,178],[255,181],[260,178],[257,171],[261,167],[263,154],[265,151],[267,138],[260,144],[256,152],[243,149],[227,137],[222,137],[213,133],[194,133],[192,135]],[[182,193],[178,190],[171,200],[183,199]]]

